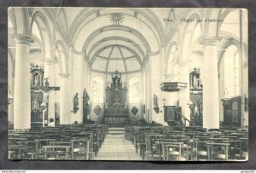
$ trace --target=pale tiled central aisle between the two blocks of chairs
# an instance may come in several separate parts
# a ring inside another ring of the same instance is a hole
[[[142,160],[136,153],[131,141],[125,139],[124,134],[108,134],[102,144],[102,148],[96,156],[96,160]]]

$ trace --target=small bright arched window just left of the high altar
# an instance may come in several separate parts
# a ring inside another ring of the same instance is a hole
[[[103,102],[103,79],[95,77],[92,80],[92,95],[94,102]]]

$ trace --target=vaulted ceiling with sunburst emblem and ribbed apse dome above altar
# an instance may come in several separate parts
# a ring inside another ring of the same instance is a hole
[[[96,72],[137,72],[148,60],[148,54],[158,52],[164,37],[161,17],[170,9],[49,9],[50,14],[67,20],[68,37],[74,49],[85,55]]]

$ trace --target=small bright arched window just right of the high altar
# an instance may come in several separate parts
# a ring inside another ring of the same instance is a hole
[[[131,78],[129,84],[129,102],[138,103],[140,100],[140,82],[138,78]]]

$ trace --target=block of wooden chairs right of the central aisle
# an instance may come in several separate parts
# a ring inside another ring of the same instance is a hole
[[[196,126],[126,125],[125,138],[143,160],[242,161],[248,155],[248,131],[235,127],[207,130]]]

